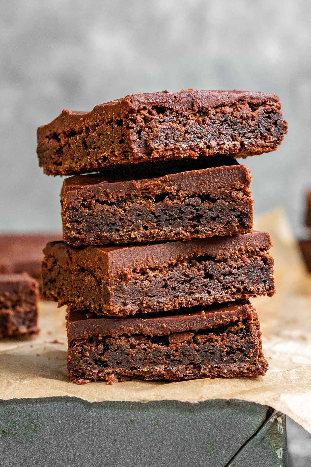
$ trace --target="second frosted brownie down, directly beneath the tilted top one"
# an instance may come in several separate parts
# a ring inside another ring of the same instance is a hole
[[[63,240],[101,245],[251,232],[250,172],[233,159],[218,162],[200,158],[133,164],[125,174],[117,170],[109,178],[66,178]]]

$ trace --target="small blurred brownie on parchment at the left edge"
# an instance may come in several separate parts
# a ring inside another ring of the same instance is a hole
[[[39,286],[28,274],[0,275],[0,338],[38,332]]]

